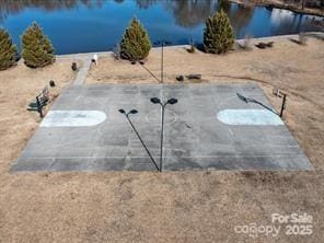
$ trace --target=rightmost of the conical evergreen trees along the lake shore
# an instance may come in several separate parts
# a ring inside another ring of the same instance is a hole
[[[233,47],[234,38],[230,20],[223,10],[208,18],[204,32],[204,46],[207,53],[227,53]]]

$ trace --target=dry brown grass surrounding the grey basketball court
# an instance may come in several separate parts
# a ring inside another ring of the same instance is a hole
[[[15,173],[8,172],[33,129],[36,114],[25,112],[35,90],[48,79],[70,80],[63,60],[36,71],[18,67],[0,72],[0,241],[1,242],[321,242],[323,238],[324,44],[276,42],[273,49],[211,56],[167,48],[167,82],[201,73],[262,82],[289,93],[286,123],[315,166],[313,172],[178,173]],[[159,50],[147,67],[159,74]],[[67,67],[66,67],[67,66]],[[60,70],[60,71],[59,71]],[[221,78],[220,78],[221,77]],[[103,58],[89,82],[154,82],[140,66]],[[210,81],[211,82],[211,81]],[[12,96],[16,100],[11,101]],[[14,109],[10,104],[14,104]],[[5,114],[5,116],[4,116]],[[314,234],[251,239],[234,225],[269,224],[274,212],[306,212]]]

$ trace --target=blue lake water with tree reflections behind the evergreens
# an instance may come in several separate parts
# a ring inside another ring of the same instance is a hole
[[[200,43],[206,19],[220,5],[229,14],[238,38],[323,31],[311,15],[220,4],[217,0],[1,0],[0,25],[20,46],[20,36],[36,21],[57,54],[72,54],[111,50],[131,18],[137,16],[152,43],[165,39],[181,45],[189,39]]]

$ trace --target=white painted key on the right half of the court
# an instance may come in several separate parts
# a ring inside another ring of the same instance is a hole
[[[280,117],[268,109],[222,109],[217,118],[228,125],[284,125]]]

